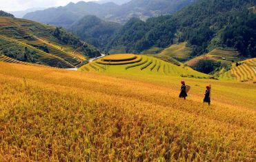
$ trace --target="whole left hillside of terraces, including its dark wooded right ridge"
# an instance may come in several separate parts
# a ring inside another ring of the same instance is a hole
[[[75,68],[100,55],[65,30],[14,17],[0,17],[0,52],[17,61],[58,68]]]

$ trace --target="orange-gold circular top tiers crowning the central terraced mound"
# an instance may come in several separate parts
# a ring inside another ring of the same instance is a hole
[[[125,65],[129,63],[137,63],[142,60],[142,57],[135,54],[112,54],[101,59],[96,63],[102,65]]]

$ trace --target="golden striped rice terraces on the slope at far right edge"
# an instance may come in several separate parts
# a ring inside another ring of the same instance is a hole
[[[234,63],[231,70],[221,74],[219,79],[256,83],[256,58],[248,59],[241,63],[238,66]]]

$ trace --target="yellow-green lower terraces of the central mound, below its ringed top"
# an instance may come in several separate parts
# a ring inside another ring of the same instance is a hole
[[[122,55],[122,54],[121,54]],[[129,54],[130,55],[130,54]],[[118,54],[115,54],[118,56]],[[112,56],[113,57],[113,56]],[[141,57],[139,61],[135,61],[134,63],[128,63],[127,61],[114,61],[112,64],[102,64],[99,63],[99,60],[93,61],[92,63],[88,63],[79,68],[79,71],[88,72],[104,72],[104,73],[122,73],[122,74],[140,74],[140,75],[148,75],[148,74],[160,74],[160,75],[172,75],[172,76],[180,76],[181,74],[184,76],[194,76],[200,78],[208,78],[208,74],[203,74],[201,72],[197,72],[192,68],[181,67],[179,65],[175,65],[173,63],[168,63],[166,61],[162,61],[155,57],[149,57],[145,55],[139,55]],[[124,57],[123,57],[124,59]],[[92,66],[93,65],[93,68]],[[164,65],[167,68],[171,68],[171,72],[164,69]],[[86,67],[86,68],[85,68]],[[162,68],[161,68],[162,67]]]

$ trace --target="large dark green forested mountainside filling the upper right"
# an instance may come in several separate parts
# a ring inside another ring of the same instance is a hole
[[[173,16],[146,22],[132,19],[112,37],[108,48],[139,53],[187,41],[192,56],[214,48],[234,48],[240,57],[255,57],[256,14],[252,6],[255,1],[198,0]]]

